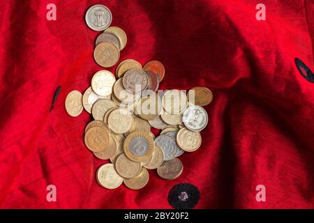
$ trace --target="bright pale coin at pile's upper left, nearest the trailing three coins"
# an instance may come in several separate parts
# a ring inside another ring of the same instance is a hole
[[[100,96],[107,96],[112,93],[114,82],[116,82],[116,78],[112,72],[100,70],[91,79],[91,89]]]

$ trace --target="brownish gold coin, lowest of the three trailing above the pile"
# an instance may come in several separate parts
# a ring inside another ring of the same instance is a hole
[[[94,59],[99,66],[110,68],[119,61],[119,49],[112,43],[102,42],[94,49]]]

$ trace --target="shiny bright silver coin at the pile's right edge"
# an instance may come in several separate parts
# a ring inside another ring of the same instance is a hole
[[[184,111],[182,121],[184,122],[184,125],[186,125],[186,128],[188,128],[189,130],[203,130],[208,123],[207,112],[200,106],[190,106]]]

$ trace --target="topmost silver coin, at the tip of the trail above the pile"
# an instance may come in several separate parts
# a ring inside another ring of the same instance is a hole
[[[107,29],[112,22],[112,14],[106,6],[91,6],[85,14],[85,22],[89,28],[94,31],[103,31]]]

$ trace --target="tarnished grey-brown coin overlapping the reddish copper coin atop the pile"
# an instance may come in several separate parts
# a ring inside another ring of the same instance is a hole
[[[148,86],[147,75],[143,70],[130,69],[123,77],[124,88],[130,93],[142,93]]]

